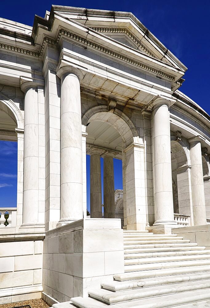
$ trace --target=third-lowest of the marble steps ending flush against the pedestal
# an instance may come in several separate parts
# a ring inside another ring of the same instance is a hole
[[[210,250],[184,250],[184,251],[164,251],[164,252],[146,252],[146,253],[127,253],[124,259],[134,258],[154,258],[154,257],[173,257],[173,256],[191,256],[191,255],[210,254]]]

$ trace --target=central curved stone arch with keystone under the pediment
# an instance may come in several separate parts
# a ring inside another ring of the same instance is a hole
[[[111,124],[121,135],[126,147],[133,142],[140,143],[134,124],[127,115],[118,109],[109,112],[109,108],[106,105],[93,107],[83,115],[82,125],[86,126],[92,121],[108,122]]]

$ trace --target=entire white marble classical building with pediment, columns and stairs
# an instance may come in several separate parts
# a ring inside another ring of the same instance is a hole
[[[210,116],[179,90],[186,70],[128,12],[0,18],[0,139],[18,143],[0,304],[210,307]]]

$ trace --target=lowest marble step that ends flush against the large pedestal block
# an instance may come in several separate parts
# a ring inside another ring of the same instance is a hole
[[[199,266],[199,265],[210,265],[210,259],[125,265],[125,272],[137,272],[138,270],[157,270],[157,269],[167,269],[173,267]]]

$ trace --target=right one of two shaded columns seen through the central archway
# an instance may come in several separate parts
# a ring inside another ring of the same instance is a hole
[[[104,159],[104,218],[115,218],[113,153],[102,155]]]

